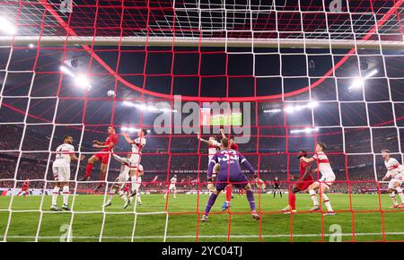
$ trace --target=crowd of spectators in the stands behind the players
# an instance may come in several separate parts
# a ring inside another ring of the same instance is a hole
[[[0,131],[2,132],[0,135],[0,187],[13,187],[13,180],[7,179],[14,178],[18,181],[16,186],[22,186],[22,181],[30,178],[34,180],[31,182],[31,187],[36,188],[43,188],[47,183],[45,180],[53,180],[51,162],[54,156],[49,151],[60,144],[61,134],[54,134],[51,138],[51,131],[44,134],[38,129],[29,127],[24,130],[22,125],[0,125]],[[22,134],[24,134],[23,141]],[[364,152],[369,146],[370,140],[361,139],[357,135],[351,134],[348,140],[357,139],[359,141],[346,143],[346,146],[351,150]],[[87,158],[91,156],[91,152],[95,152],[91,147],[92,140],[102,140],[104,136],[105,134],[99,132],[84,134],[81,151],[87,152],[85,154]],[[378,143],[386,142],[386,140],[393,142],[394,138],[397,136],[379,136],[373,139],[373,145],[381,146]],[[75,147],[78,149],[76,143]],[[350,190],[351,193],[359,193],[377,188],[378,183],[375,181],[374,172],[376,171],[377,180],[381,180],[385,174],[381,157],[376,156],[376,160],[373,160],[372,153],[346,156],[339,152],[343,150],[342,147],[342,143],[331,143],[329,149],[331,152],[329,160],[337,174],[337,182],[332,186],[331,191],[347,193]],[[130,146],[121,138],[115,152],[128,151],[130,151]],[[289,186],[288,177],[299,175],[298,160],[295,159],[294,153],[258,153],[256,137],[251,138],[250,143],[240,145],[240,151],[245,153],[246,158],[250,160],[254,168],[259,169],[260,178],[267,182],[268,189],[271,188],[275,177],[281,180],[281,188],[287,189]],[[171,138],[169,136],[157,138],[151,134],[147,139],[142,157],[142,164],[145,168],[144,189],[163,190],[167,188],[169,179],[177,174],[178,187],[181,190],[198,190],[198,180],[200,183],[206,181],[206,152],[206,144],[198,143],[196,136],[193,135],[185,137],[172,135]],[[397,158],[400,160],[400,156]],[[72,163],[72,180],[83,177],[86,163],[87,160],[81,161],[79,170],[76,169],[77,164]],[[373,165],[374,163],[375,165]],[[118,174],[119,163],[111,160],[108,181],[114,181]],[[93,176],[93,179],[98,180],[99,166],[94,167]],[[36,179],[38,180],[35,181]],[[96,185],[96,183],[78,184],[83,188],[95,187]],[[75,184],[72,183],[72,186]],[[385,184],[380,184],[380,187],[384,186]],[[199,188],[205,188],[205,186]]]

